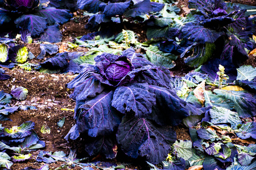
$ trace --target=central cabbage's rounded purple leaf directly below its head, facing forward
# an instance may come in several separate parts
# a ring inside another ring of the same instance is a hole
[[[135,113],[136,117],[147,117],[155,105],[155,94],[148,92],[148,84],[132,83],[119,86],[114,92],[112,107],[119,112]]]

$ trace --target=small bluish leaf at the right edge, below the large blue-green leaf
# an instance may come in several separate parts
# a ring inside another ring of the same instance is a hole
[[[241,139],[248,139],[250,137],[256,139],[256,122],[247,122],[238,130],[239,132],[236,133],[237,137]]]

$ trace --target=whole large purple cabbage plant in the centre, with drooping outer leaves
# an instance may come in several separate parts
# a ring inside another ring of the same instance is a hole
[[[85,138],[89,155],[131,158],[157,164],[166,158],[176,133],[170,128],[188,116],[187,103],[170,86],[170,71],[129,48],[121,56],[102,53],[85,63],[67,84],[75,88],[76,125],[65,139]]]

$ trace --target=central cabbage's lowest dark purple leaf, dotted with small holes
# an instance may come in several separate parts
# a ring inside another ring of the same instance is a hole
[[[174,130],[154,126],[145,118],[124,117],[117,131],[117,142],[126,155],[145,156],[152,164],[166,159],[175,141]]]

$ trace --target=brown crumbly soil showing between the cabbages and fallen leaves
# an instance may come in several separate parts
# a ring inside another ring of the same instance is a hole
[[[177,6],[182,8],[181,14],[185,15],[188,11],[188,0],[181,0],[177,3]],[[82,11],[77,11],[75,16],[81,15]],[[88,22],[88,17],[75,17],[70,22],[61,25],[60,30],[63,34],[63,42],[57,43],[59,47],[64,47],[68,49],[67,42],[72,42],[75,40],[75,37],[83,36],[90,31],[84,28],[84,25]],[[139,41],[145,41],[146,30],[145,25],[143,24],[127,24],[127,29],[133,29],[139,37]],[[32,52],[35,56],[38,56],[40,53],[39,44],[26,44],[28,50]],[[77,48],[78,51],[87,51],[85,48]],[[71,52],[71,51],[70,51]],[[46,58],[52,56],[46,56]],[[44,58],[44,59],[46,59]],[[30,62],[39,63],[43,60],[32,59]],[[255,57],[250,56],[250,60],[247,61],[247,64],[255,66]],[[9,80],[0,81],[0,91],[3,90],[6,93],[11,92],[13,86],[22,86],[27,88],[28,96],[26,100],[17,101],[12,100],[11,105],[34,105],[37,110],[27,110],[27,111],[18,111],[9,116],[12,121],[2,121],[1,124],[3,127],[11,128],[12,126],[19,126],[25,121],[35,122],[35,131],[38,134],[39,138],[46,142],[46,147],[44,151],[64,151],[66,154],[69,153],[70,148],[79,148],[77,154],[79,156],[85,157],[88,155],[84,154],[82,142],[77,140],[74,142],[65,141],[64,137],[68,133],[69,129],[75,124],[73,120],[74,112],[71,111],[75,108],[75,101],[69,98],[69,95],[73,92],[72,89],[65,88],[65,84],[70,82],[76,75],[72,74],[44,74],[39,73],[38,71],[24,71],[19,67],[14,69],[6,69],[6,74],[9,74],[11,78]],[[188,73],[192,69],[185,66],[184,62],[178,58],[176,61],[176,67],[172,69],[172,74],[182,75]],[[65,117],[65,124],[62,128],[59,128],[57,122]],[[51,128],[51,133],[43,134],[40,132],[40,129],[43,125],[47,125]],[[188,132],[188,128],[185,128],[182,125],[176,126],[175,131],[177,133],[177,139],[182,140],[191,140]],[[40,168],[43,163],[38,163],[35,161],[36,155],[39,151],[31,152],[34,159],[30,159],[24,163],[14,163],[11,166],[11,169],[23,169],[26,167]],[[105,162],[119,162],[123,159],[120,158],[123,155],[120,154],[119,158],[115,160],[106,160],[104,156],[97,155],[95,158],[90,158],[90,160],[97,161],[103,160]],[[125,157],[126,159],[126,157]],[[127,161],[127,160],[126,160]],[[131,160],[133,161],[133,160]],[[55,169],[59,167],[62,163],[52,163],[49,164],[50,169]],[[64,168],[65,169],[65,168]],[[73,169],[81,169],[75,167]],[[97,169],[94,167],[94,169]],[[131,165],[127,165],[126,169],[146,169],[145,166],[140,162],[133,162]]]

